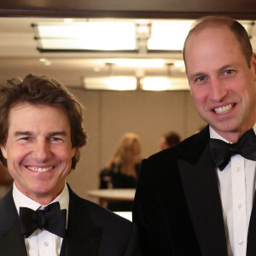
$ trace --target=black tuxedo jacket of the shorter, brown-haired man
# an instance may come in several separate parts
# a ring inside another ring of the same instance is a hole
[[[67,234],[61,256],[140,255],[134,224],[75,195],[69,188]],[[0,255],[26,256],[12,189],[0,201]]]

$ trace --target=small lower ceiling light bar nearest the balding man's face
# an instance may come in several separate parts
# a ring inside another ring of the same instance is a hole
[[[187,79],[146,77],[140,82],[142,90],[189,90]]]

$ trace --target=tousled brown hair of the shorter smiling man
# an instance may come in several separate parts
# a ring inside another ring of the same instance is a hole
[[[80,157],[79,148],[85,145],[87,138],[82,126],[82,108],[76,98],[60,82],[45,76],[29,74],[23,81],[8,80],[7,84],[0,85],[0,145],[4,145],[7,141],[9,110],[20,102],[61,108],[67,113],[72,147],[76,148],[71,166],[75,169]],[[0,161],[7,166],[2,151],[0,151]]]

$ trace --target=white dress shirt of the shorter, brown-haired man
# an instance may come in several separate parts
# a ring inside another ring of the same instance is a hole
[[[36,211],[38,208],[44,209],[44,207],[47,207],[40,205],[37,201],[33,201],[26,195],[22,194],[20,190],[15,186],[15,183],[13,189],[13,197],[18,214],[20,214],[20,207],[31,208],[34,211]],[[50,203],[56,201],[59,201],[61,210],[67,209],[68,213],[69,193],[67,184],[65,184],[61,194],[58,195],[55,200],[51,201]],[[24,239],[28,256],[57,256],[61,253],[61,244],[63,238],[56,236],[47,230],[35,230],[28,238],[25,238],[24,236]]]

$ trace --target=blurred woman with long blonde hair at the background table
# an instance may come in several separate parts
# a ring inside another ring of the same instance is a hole
[[[141,164],[141,141],[136,133],[125,133],[108,166],[100,173],[100,189],[135,189]],[[131,211],[132,202],[108,203],[111,211]]]

